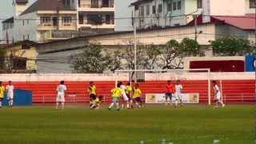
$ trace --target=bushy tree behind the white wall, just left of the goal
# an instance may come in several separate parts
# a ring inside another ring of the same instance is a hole
[[[108,70],[111,58],[103,54],[102,46],[90,43],[80,54],[71,55],[71,67],[78,73],[103,73]]]

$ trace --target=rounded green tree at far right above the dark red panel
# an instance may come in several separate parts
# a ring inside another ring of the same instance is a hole
[[[250,46],[250,42],[242,38],[219,38],[211,42],[211,45],[213,46],[214,55],[218,56],[242,56],[255,53],[255,49]]]

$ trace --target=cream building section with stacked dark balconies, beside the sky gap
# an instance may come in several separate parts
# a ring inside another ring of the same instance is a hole
[[[114,30],[114,0],[78,0],[78,30]]]

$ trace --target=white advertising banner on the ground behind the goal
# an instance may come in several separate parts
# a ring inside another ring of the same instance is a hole
[[[166,101],[166,94],[146,94],[146,103],[164,103]],[[173,96],[172,102],[175,101]],[[199,94],[182,94],[183,103],[199,103]]]

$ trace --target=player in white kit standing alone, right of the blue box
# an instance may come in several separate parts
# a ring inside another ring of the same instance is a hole
[[[64,81],[61,81],[60,84],[57,86],[56,109],[58,109],[59,104],[62,105],[62,110],[64,109],[65,91],[66,86],[64,85]]]

